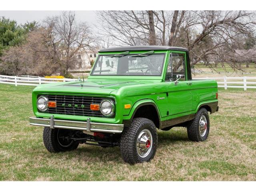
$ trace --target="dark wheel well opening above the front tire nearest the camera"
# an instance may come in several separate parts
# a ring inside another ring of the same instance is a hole
[[[137,117],[143,117],[152,120],[156,128],[159,128],[160,126],[158,112],[156,111],[156,108],[153,105],[144,105],[138,108],[133,118]]]

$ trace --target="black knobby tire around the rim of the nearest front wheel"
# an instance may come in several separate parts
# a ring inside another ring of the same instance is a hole
[[[142,130],[149,130],[152,134],[152,146],[149,154],[142,158],[136,148],[137,139]],[[156,126],[147,118],[134,118],[129,127],[124,128],[120,138],[120,151],[122,158],[129,164],[148,162],[154,158],[158,143]]]

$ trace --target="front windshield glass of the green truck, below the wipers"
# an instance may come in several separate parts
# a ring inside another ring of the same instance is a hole
[[[99,55],[91,75],[161,76],[165,54]]]

